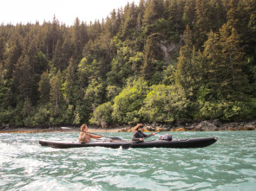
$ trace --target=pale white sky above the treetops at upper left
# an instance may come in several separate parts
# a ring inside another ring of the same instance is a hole
[[[140,0],[0,0],[0,24],[38,21],[52,22],[53,16],[66,25],[73,25],[78,17],[82,22],[106,18],[112,10],[123,8],[128,2],[138,5]]]

